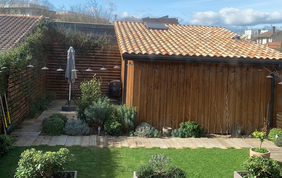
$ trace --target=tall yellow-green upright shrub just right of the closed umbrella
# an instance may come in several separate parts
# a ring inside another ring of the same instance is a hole
[[[78,99],[76,103],[76,115],[78,119],[83,121],[87,121],[85,109],[88,108],[93,101],[97,101],[101,96],[102,80],[101,78],[97,79],[95,75],[90,81],[84,80],[84,82],[80,83],[81,98]]]

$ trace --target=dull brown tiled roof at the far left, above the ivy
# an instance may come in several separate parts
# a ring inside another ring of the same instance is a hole
[[[0,50],[21,42],[33,30],[34,24],[43,19],[44,16],[0,15]]]

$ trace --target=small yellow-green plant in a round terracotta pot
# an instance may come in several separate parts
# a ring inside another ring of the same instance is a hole
[[[257,129],[255,129],[255,132],[252,133],[252,135],[255,136],[255,138],[258,138],[259,141],[261,141],[261,144],[263,143],[264,139],[266,138],[266,133],[265,132],[259,132]],[[261,144],[259,147],[256,148],[250,148],[250,157],[252,155],[263,155],[265,158],[269,159],[270,158],[270,151],[266,149],[265,147],[261,147]]]

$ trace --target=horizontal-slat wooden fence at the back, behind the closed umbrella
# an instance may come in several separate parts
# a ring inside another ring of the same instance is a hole
[[[110,51],[111,49],[111,51]],[[50,44],[50,49],[46,51],[48,53],[48,62],[56,64],[66,64],[67,63],[67,50],[58,43]],[[109,82],[113,80],[120,80],[121,78],[121,68],[113,68],[118,64],[121,67],[121,56],[117,46],[107,46],[103,51],[100,47],[95,47],[95,49],[87,50],[88,53],[83,54],[78,49],[74,49],[76,64],[90,64],[90,69],[93,71],[85,71],[89,66],[79,66],[76,65],[77,79],[72,84],[74,87],[79,87],[83,80],[92,79],[93,75],[96,77],[101,77],[103,83],[101,87],[102,94],[108,95]],[[104,64],[103,63],[108,63]],[[69,83],[65,80],[65,71],[56,71],[60,65],[47,64],[49,70],[46,73],[47,80],[47,91],[54,91],[58,98],[67,98],[67,92],[65,88],[69,87]],[[107,70],[100,70],[102,67],[107,68]],[[66,66],[61,66],[64,70]],[[78,93],[80,94],[80,93]],[[78,95],[79,96],[79,95]]]

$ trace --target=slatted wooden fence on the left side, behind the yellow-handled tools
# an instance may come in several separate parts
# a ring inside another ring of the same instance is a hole
[[[23,77],[27,77],[29,81],[38,81],[36,85],[22,84],[21,80],[14,77],[13,73],[8,77],[8,90],[6,92],[11,124],[23,119],[28,114],[28,98],[35,97],[36,94],[43,94],[45,91],[45,71],[40,70],[39,74],[32,74],[34,68],[28,68],[22,71]],[[33,83],[34,84],[34,83]],[[28,88],[32,88],[32,92],[28,93]],[[2,99],[4,96],[2,96]],[[5,101],[3,99],[3,101]],[[5,103],[4,103],[5,105]],[[6,112],[6,110],[5,110]],[[7,124],[8,117],[6,116]],[[3,131],[2,121],[0,123],[0,133]]]

